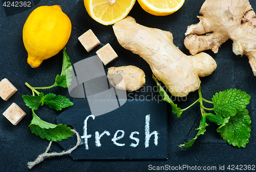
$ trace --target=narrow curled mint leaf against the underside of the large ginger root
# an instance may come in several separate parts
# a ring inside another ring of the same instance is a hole
[[[163,96],[163,100],[168,102],[170,105],[172,105],[172,109],[173,109],[173,113],[177,114],[177,117],[180,117],[180,115],[182,114],[182,111],[180,109],[180,107],[178,107],[177,104],[175,104],[172,99],[170,99],[170,97],[168,96],[168,94],[165,92],[165,90],[161,87],[161,84],[158,82],[157,78],[153,75],[152,76],[153,79],[156,81],[157,86],[158,86],[158,93]]]

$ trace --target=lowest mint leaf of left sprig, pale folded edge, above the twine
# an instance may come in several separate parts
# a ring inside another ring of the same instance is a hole
[[[73,136],[71,127],[62,124],[52,124],[41,120],[34,112],[33,119],[29,124],[30,131],[42,139],[61,141]]]

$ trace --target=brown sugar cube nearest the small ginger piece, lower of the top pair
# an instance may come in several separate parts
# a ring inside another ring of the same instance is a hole
[[[109,62],[118,57],[109,43],[96,51],[96,54],[99,56],[104,65],[107,65]]]

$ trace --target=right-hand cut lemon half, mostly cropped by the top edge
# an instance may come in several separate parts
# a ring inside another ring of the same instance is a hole
[[[179,10],[185,0],[138,0],[141,8],[153,15],[169,15]]]

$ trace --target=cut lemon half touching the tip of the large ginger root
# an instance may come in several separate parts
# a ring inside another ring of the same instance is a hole
[[[102,25],[112,25],[131,11],[136,0],[84,0],[88,14]]]

